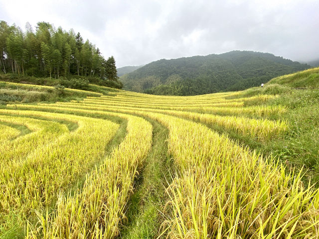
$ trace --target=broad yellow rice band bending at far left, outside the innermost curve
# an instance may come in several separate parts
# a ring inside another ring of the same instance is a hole
[[[21,224],[19,221],[35,216],[35,209],[54,203],[58,192],[75,183],[104,157],[105,147],[118,128],[118,124],[111,121],[62,114],[10,110],[1,110],[0,114],[65,119],[79,125],[69,132],[65,125],[56,122],[14,119],[29,121],[27,126],[40,121],[44,126],[43,130],[17,138],[1,148],[0,222],[6,222],[7,227],[8,222]],[[35,126],[41,128],[41,125]]]

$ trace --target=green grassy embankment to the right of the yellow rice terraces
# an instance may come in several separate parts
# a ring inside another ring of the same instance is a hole
[[[269,144],[255,144],[246,139],[246,143],[266,154],[272,153],[283,161],[287,160],[288,165],[306,166],[308,179],[319,182],[319,68],[274,78],[264,88],[251,88],[240,96],[256,95],[278,97],[266,102],[247,102],[245,105],[284,107],[287,111],[269,115],[268,118],[287,120],[290,127],[280,140],[274,138]],[[240,135],[237,138],[241,138]]]

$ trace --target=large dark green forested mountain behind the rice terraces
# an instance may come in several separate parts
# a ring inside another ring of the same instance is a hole
[[[124,89],[157,95],[200,95],[244,90],[310,68],[270,53],[231,51],[152,62],[122,76]]]

